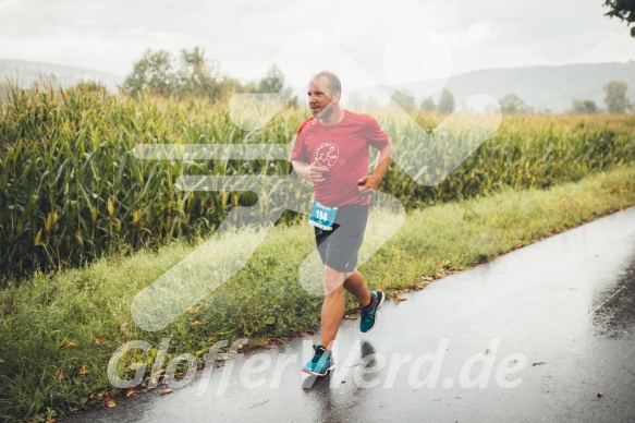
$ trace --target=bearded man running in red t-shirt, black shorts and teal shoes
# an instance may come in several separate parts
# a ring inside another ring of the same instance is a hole
[[[309,222],[323,263],[325,300],[321,338],[303,372],[318,376],[334,368],[333,340],[344,315],[344,289],[359,302],[359,329],[375,326],[377,311],[386,299],[370,292],[356,269],[357,251],[368,219],[369,196],[388,169],[393,148],[377,120],[340,106],[341,83],[331,72],[317,73],[308,84],[313,118],[305,121],[293,148],[293,169],[313,181],[314,202]],[[375,171],[368,174],[368,145],[377,148]]]

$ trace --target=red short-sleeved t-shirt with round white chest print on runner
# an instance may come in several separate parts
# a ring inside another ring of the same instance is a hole
[[[331,126],[314,118],[303,122],[291,159],[309,165],[317,161],[329,169],[326,180],[313,185],[315,197],[325,206],[368,204],[357,186],[368,174],[368,145],[381,149],[389,142],[375,118],[344,110],[344,119]]]

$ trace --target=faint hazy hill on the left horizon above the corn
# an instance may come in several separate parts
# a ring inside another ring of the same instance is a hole
[[[22,87],[29,87],[34,81],[54,75],[62,86],[75,85],[81,81],[100,81],[109,90],[117,90],[123,78],[110,73],[90,69],[64,67],[51,63],[27,62],[23,60],[0,59],[0,81],[16,80]]]

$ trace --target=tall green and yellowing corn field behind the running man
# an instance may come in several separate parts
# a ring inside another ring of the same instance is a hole
[[[412,122],[388,110],[374,116],[393,140],[420,142]],[[286,160],[138,160],[135,146],[288,144],[307,117],[305,108],[286,108],[261,130],[246,131],[232,123],[227,105],[203,99],[13,89],[0,105],[2,283],[35,269],[205,235],[232,207],[254,203],[251,193],[179,191],[181,176],[292,170]],[[443,116],[414,119],[432,130]],[[634,128],[633,116],[505,116],[497,134],[437,186],[417,184],[393,164],[380,189],[407,207],[502,186],[545,189],[632,161]]]

